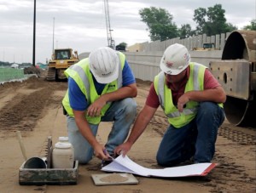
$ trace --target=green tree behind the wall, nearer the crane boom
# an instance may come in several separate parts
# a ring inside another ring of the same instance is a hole
[[[140,9],[142,21],[148,26],[151,41],[165,41],[177,37],[177,26],[172,22],[172,14],[166,9],[155,7]]]

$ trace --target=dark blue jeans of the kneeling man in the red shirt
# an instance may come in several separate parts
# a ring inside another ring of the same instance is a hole
[[[211,162],[218,128],[224,122],[224,110],[216,103],[201,102],[192,122],[182,128],[170,125],[160,143],[156,160],[160,166],[172,167],[189,161]]]

